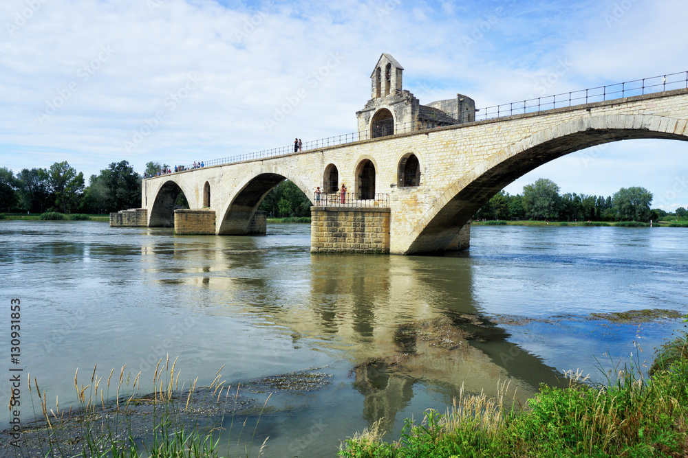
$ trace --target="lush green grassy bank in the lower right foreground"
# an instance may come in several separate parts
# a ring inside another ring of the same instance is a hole
[[[382,442],[379,422],[346,439],[340,457],[683,457],[688,453],[688,334],[658,350],[649,376],[634,365],[592,385],[541,386],[523,409],[461,392],[447,413],[406,420]],[[657,362],[660,363],[657,363]]]

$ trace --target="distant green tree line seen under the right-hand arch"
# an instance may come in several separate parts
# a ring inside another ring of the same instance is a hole
[[[591,196],[567,192],[549,179],[538,179],[523,187],[523,194],[495,194],[475,213],[475,220],[559,220],[559,221],[644,221],[658,220],[669,214],[650,209],[652,192],[644,187],[622,187],[613,196]],[[679,219],[688,219],[688,211],[676,209]]]

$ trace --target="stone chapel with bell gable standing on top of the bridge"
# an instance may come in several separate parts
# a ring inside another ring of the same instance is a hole
[[[371,139],[415,130],[451,126],[475,120],[475,102],[466,95],[427,105],[402,89],[404,68],[394,57],[382,54],[372,75],[372,98],[356,112],[358,138]]]

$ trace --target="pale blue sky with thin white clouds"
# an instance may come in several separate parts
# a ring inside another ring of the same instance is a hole
[[[189,164],[356,130],[381,53],[421,104],[493,106],[688,70],[685,0],[2,0],[0,167]],[[688,207],[688,143],[551,161],[560,192]]]

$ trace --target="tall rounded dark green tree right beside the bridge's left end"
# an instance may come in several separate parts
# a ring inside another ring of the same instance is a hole
[[[107,211],[119,211],[141,205],[141,176],[127,161],[113,162],[100,170],[100,179],[107,187]]]

